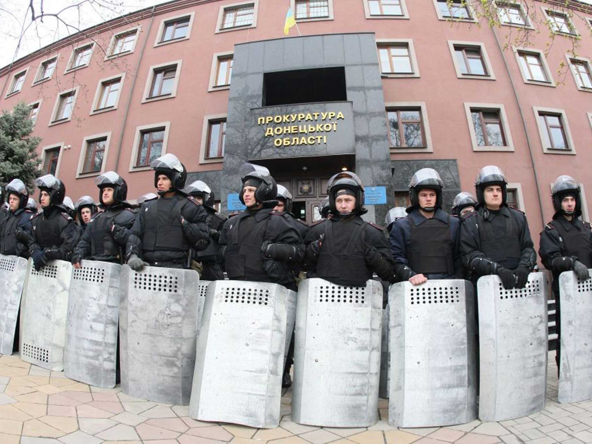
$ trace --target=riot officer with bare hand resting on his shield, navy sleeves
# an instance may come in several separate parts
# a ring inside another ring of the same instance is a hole
[[[454,279],[462,273],[460,223],[442,210],[439,173],[422,168],[411,178],[407,217],[395,221],[390,240],[395,273],[413,285],[427,279]]]

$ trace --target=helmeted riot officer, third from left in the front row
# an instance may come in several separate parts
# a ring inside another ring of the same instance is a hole
[[[126,243],[136,220],[136,211],[126,202],[125,179],[108,171],[97,176],[95,184],[104,211],[96,213],[86,226],[72,256],[75,268],[80,268],[82,259],[123,263]],[[92,202],[91,197],[85,197]]]

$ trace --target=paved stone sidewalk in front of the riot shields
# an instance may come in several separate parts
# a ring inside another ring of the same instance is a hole
[[[380,421],[368,429],[308,427],[291,421],[291,390],[285,390],[279,427],[259,430],[195,421],[188,417],[188,406],[131,398],[119,387],[89,387],[18,356],[1,356],[0,444],[592,443],[592,400],[558,404],[554,352],[549,353],[549,363],[545,410],[529,417],[395,429],[387,421],[388,400],[380,400]]]

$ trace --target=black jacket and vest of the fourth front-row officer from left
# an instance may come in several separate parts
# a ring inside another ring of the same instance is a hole
[[[153,266],[189,268],[193,250],[210,243],[206,218],[194,197],[180,193],[144,202],[128,237],[126,259],[137,255]]]

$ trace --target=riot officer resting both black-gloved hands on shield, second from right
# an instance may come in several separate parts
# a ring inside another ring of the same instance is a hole
[[[496,274],[504,288],[524,288],[536,265],[526,216],[508,207],[506,176],[488,165],[475,179],[478,209],[467,213],[461,224],[464,263],[473,276]]]

